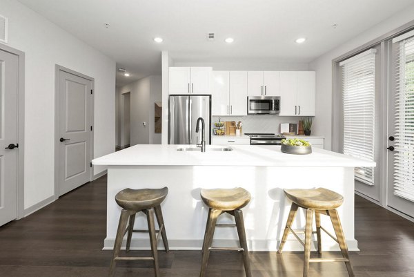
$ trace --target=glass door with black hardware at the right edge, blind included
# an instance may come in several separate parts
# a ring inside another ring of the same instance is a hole
[[[387,205],[414,218],[414,32],[389,45]]]

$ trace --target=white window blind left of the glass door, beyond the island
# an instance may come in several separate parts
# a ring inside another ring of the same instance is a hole
[[[344,108],[343,153],[374,160],[375,151],[375,49],[342,61]],[[374,185],[373,167],[355,168],[355,180]]]

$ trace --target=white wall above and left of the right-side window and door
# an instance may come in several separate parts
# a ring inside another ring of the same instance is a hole
[[[316,71],[316,117],[313,131],[324,135],[326,149],[331,149],[332,144],[332,60],[412,21],[413,15],[414,5],[362,32],[346,44],[327,52],[309,64],[309,69]]]

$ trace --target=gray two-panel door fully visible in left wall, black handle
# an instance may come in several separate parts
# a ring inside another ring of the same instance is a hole
[[[92,82],[59,70],[59,196],[90,181]]]

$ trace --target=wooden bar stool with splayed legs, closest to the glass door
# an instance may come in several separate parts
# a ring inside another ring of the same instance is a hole
[[[308,277],[309,262],[345,262],[348,275],[353,277],[353,268],[348,256],[348,247],[346,246],[346,240],[344,232],[342,231],[341,222],[337,212],[337,207],[342,205],[344,198],[342,195],[330,191],[328,189],[285,189],[284,193],[286,197],[292,200],[292,206],[290,207],[290,213],[288,216],[288,222],[286,222],[286,228],[284,229],[282,242],[279,246],[279,254],[282,253],[282,249],[288,238],[288,233],[292,232],[293,235],[302,243],[305,247],[304,257],[304,277]],[[306,230],[305,230],[305,242],[303,242],[299,236],[290,227],[295,219],[297,208],[306,209]],[[316,231],[312,230],[313,213],[315,213]],[[320,215],[326,215],[331,218],[333,229],[335,230],[336,238],[328,233],[324,227],[321,227]],[[312,233],[317,234],[317,250],[319,254],[322,254],[321,243],[321,230],[327,233],[333,240],[335,240],[341,249],[343,258],[311,258],[311,236]]]

